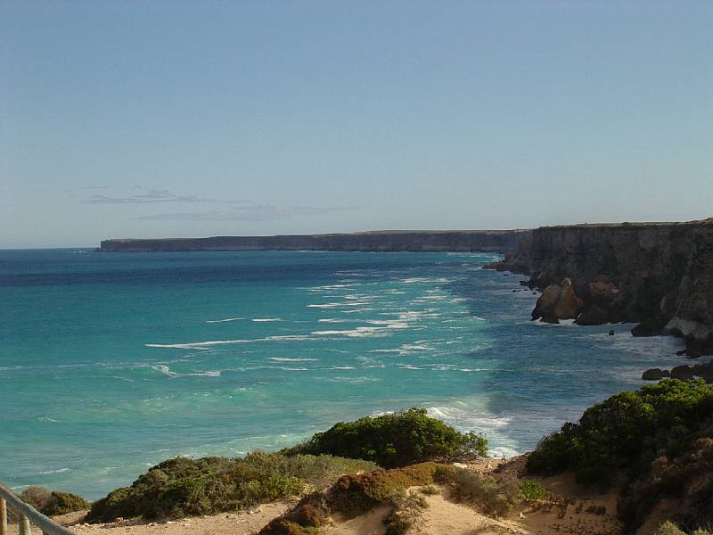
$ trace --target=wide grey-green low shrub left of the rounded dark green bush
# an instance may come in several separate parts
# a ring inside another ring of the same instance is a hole
[[[94,502],[87,522],[171,518],[234,511],[324,488],[342,473],[373,470],[371,462],[332,456],[285,457],[254,452],[243,459],[176,457],[153,466],[131,487]]]

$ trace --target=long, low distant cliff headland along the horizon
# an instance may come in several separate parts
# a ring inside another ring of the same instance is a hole
[[[329,235],[104,240],[99,251],[493,251],[514,253],[528,230],[378,231]]]

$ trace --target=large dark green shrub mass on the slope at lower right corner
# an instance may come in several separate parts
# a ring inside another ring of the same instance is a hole
[[[676,521],[685,529],[713,524],[713,386],[665,379],[611,396],[542,440],[528,470],[620,484],[628,531],[667,497],[681,500]]]

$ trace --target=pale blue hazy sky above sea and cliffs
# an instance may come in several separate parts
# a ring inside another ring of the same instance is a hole
[[[713,216],[713,3],[0,2],[0,248]]]

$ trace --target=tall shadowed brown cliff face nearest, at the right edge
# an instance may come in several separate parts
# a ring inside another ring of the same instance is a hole
[[[713,350],[713,218],[545,226],[498,268],[539,289],[569,278],[584,301],[578,323],[641,322],[635,334],[681,334],[690,354]]]

